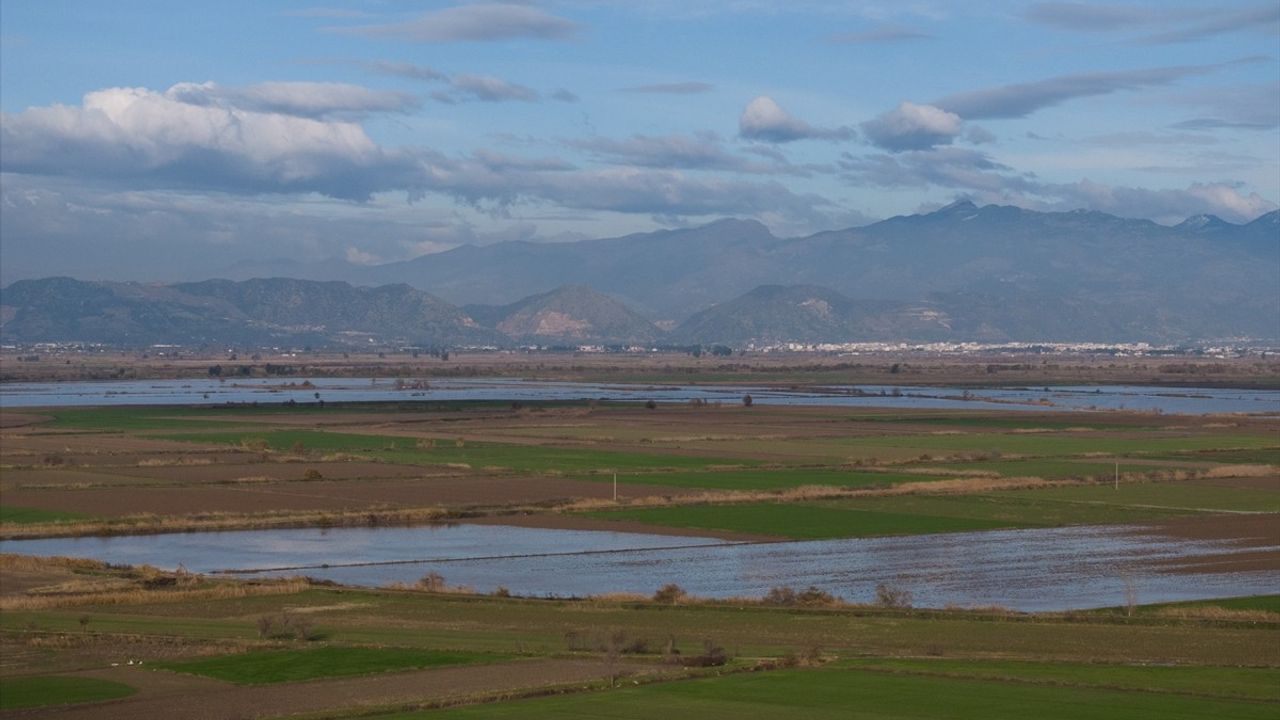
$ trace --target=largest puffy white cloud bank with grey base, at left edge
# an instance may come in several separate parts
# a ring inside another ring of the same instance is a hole
[[[349,200],[419,182],[412,156],[383,150],[353,122],[193,104],[175,87],[115,87],[81,106],[0,114],[0,169]]]

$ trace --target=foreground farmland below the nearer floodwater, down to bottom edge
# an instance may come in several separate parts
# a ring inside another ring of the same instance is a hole
[[[1280,710],[1275,596],[1028,615],[920,611],[901,598],[845,606],[820,593],[525,600],[14,556],[0,570],[18,579],[0,593],[0,696],[24,717]]]

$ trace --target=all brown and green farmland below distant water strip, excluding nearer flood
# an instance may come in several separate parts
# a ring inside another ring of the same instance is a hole
[[[0,536],[466,519],[892,543],[1123,525],[1221,543],[1203,568],[1170,570],[1194,582],[1276,573],[1277,464],[1280,420],[1243,415],[588,401],[6,410]],[[846,605],[822,588],[709,601],[659,582],[588,600],[481,596],[451,588],[448,566],[380,589],[170,570],[0,556],[5,711],[1280,712],[1275,596],[1143,606],[1138,593],[1124,606],[1117,585],[1120,607],[1029,614],[913,610],[892,580]],[[54,707],[64,702],[76,705]]]

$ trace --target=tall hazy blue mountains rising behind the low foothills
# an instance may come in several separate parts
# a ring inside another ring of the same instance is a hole
[[[1206,217],[1165,227],[961,201],[803,238],[721,220],[612,240],[465,246],[362,272],[461,302],[502,304],[563,283],[590,284],[655,320],[686,320],[762,284],[803,284],[846,297],[979,302],[980,320],[954,325],[959,340],[960,328],[983,337],[1052,328],[1064,333],[1055,340],[1277,338],[1277,218],[1236,225]],[[1044,313],[1029,316],[1029,307]]]

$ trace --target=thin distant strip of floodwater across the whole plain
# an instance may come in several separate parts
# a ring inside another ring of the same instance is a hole
[[[307,382],[307,387],[301,387]],[[289,384],[293,383],[293,384]],[[411,386],[412,383],[408,383]],[[358,378],[109,380],[0,384],[0,407],[74,405],[225,405],[372,401],[538,401],[617,400],[643,402],[737,404],[751,395],[760,405],[833,405],[957,410],[1135,410],[1171,414],[1280,414],[1280,391],[1071,386],[952,388],[915,386],[829,386],[780,389],[749,386],[645,386],[520,379],[433,379],[426,389],[398,388],[394,380]]]

